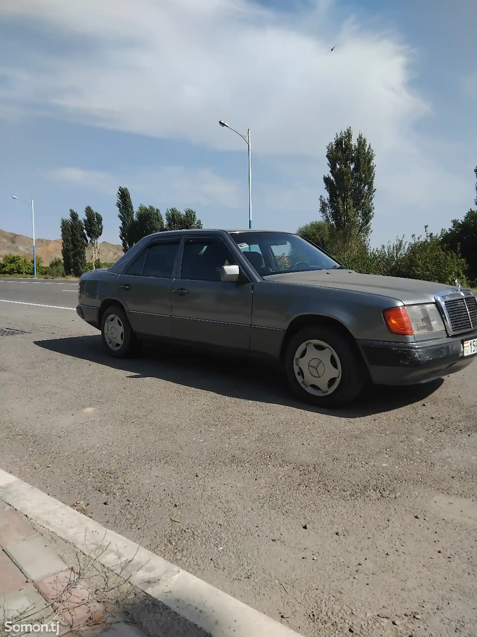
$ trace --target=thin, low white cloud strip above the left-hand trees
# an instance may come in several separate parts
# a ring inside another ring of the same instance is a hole
[[[52,180],[72,183],[107,195],[116,194],[118,185],[128,183],[133,194],[169,201],[179,206],[214,206],[240,208],[244,195],[240,185],[219,177],[209,168],[186,169],[182,166],[162,166],[156,170],[125,175],[113,175],[94,170],[63,167],[42,171]],[[149,203],[146,201],[137,203]],[[170,203],[170,206],[173,204]]]

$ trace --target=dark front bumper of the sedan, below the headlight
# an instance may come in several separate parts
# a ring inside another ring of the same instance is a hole
[[[359,341],[371,379],[380,385],[414,385],[448,376],[471,364],[477,357],[464,357],[464,340],[477,338],[477,331],[459,337],[417,343]]]

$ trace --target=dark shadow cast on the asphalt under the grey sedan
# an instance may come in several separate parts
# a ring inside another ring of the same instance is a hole
[[[144,345],[136,358],[114,359],[104,350],[101,337],[71,336],[34,341],[51,352],[73,356],[113,369],[132,372],[128,378],[161,378],[172,383],[203,389],[221,396],[275,403],[308,412],[326,413],[340,418],[360,418],[390,412],[422,401],[438,389],[442,379],[411,387],[370,387],[349,408],[324,410],[300,403],[290,396],[286,379],[273,366],[246,359],[189,351],[186,348]]]

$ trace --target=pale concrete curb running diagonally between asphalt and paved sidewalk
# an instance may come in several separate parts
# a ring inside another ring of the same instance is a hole
[[[2,469],[0,498],[86,555],[96,555],[100,564],[129,577],[139,589],[212,637],[300,637],[287,626]],[[130,563],[125,567],[126,562]]]

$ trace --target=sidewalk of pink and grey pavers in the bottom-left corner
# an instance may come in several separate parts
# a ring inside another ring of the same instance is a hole
[[[145,637],[101,591],[55,551],[14,508],[0,500],[0,634],[33,631],[105,637]],[[10,622],[10,623],[9,623]]]

